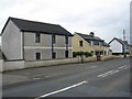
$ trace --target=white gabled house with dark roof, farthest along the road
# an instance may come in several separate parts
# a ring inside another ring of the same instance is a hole
[[[108,44],[110,45],[113,55],[129,53],[130,45],[127,41],[113,37]]]

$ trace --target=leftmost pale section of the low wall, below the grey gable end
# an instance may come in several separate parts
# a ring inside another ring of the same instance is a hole
[[[3,62],[3,70],[15,70],[15,69],[22,69],[24,67],[24,61],[12,61],[12,62]]]

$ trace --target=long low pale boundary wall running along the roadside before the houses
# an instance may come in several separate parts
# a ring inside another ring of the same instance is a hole
[[[102,56],[101,61],[116,58],[114,56]],[[48,59],[48,61],[10,61],[3,62],[0,59],[0,72],[7,70],[16,70],[23,68],[32,68],[32,67],[42,67],[42,66],[54,66],[62,64],[76,64],[76,63],[88,63],[96,62],[97,57],[74,57],[74,58],[64,58],[64,59]]]

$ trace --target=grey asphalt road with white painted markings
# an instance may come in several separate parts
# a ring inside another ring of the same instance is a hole
[[[41,69],[48,74],[42,74],[22,82],[3,85],[3,97],[34,97],[35,99],[43,97],[130,97],[132,94],[130,92],[129,58]]]

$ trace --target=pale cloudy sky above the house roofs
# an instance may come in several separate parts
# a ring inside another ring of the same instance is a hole
[[[131,0],[0,0],[0,31],[9,16],[59,24],[69,31],[95,32],[107,43],[130,41]]]

